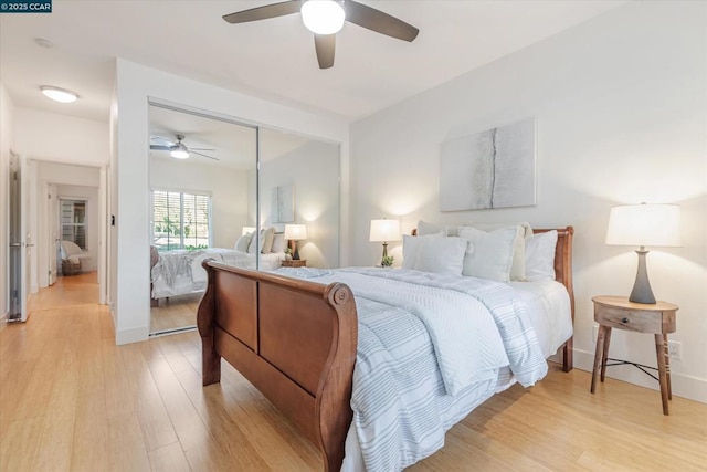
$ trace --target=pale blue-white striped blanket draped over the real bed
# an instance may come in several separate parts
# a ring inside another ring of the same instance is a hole
[[[368,471],[402,470],[440,449],[505,366],[525,386],[547,374],[525,304],[505,284],[386,269],[279,272],[344,282],[356,296],[351,408]]]

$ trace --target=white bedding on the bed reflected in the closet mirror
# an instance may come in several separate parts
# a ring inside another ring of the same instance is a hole
[[[236,268],[255,269],[255,254],[232,249],[210,248],[160,252],[159,261],[150,274],[152,298],[203,292],[207,289],[207,272],[201,263],[209,258]],[[274,271],[284,260],[284,252],[260,254],[260,269]]]

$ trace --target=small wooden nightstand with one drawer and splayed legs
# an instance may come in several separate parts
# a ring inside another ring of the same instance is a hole
[[[594,321],[599,323],[599,335],[597,336],[591,392],[594,392],[598,375],[601,381],[604,381],[606,365],[616,366],[630,364],[661,382],[663,413],[669,415],[667,401],[673,399],[673,391],[671,388],[671,360],[667,353],[667,334],[675,333],[675,315],[678,306],[667,302],[657,302],[650,305],[633,303],[629,302],[629,298],[625,296],[602,295],[594,296],[592,301],[594,302]],[[633,331],[636,333],[653,333],[655,335],[655,354],[658,360],[657,369],[626,360],[610,359],[608,354],[609,342],[611,340],[611,328]],[[613,360],[616,364],[606,364],[609,360]],[[646,371],[646,368],[657,370],[658,378]]]

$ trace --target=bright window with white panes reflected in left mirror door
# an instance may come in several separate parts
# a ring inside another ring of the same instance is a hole
[[[152,190],[152,244],[158,251],[211,245],[211,196]]]

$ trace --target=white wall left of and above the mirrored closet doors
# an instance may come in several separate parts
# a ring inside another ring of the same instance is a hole
[[[348,124],[235,92],[190,81],[122,59],[117,60],[116,108],[112,115],[115,139],[112,185],[117,201],[112,241],[113,313],[118,344],[147,339],[149,334],[149,180],[148,99],[208,111],[212,115],[288,129],[297,134],[342,143],[344,171],[348,169]],[[348,175],[345,175],[348,178]],[[136,250],[145,248],[145,252]]]

